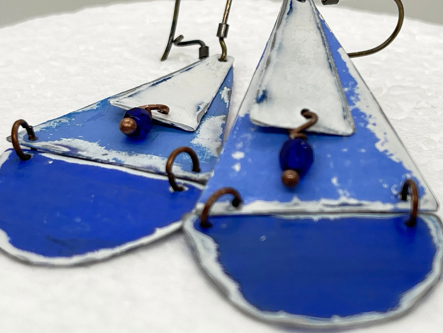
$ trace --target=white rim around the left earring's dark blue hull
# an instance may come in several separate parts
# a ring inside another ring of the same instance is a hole
[[[0,169],[4,162],[8,159],[9,155],[12,154],[12,151],[6,151],[0,156]],[[167,185],[167,177],[162,176],[159,174],[152,174],[149,172],[143,172],[138,170],[132,170],[121,166],[115,166],[112,164],[102,164],[102,163],[96,163],[88,160],[82,160],[82,159],[74,159],[66,156],[61,155],[55,155],[51,153],[41,153],[41,155],[47,157],[48,159],[56,159],[60,160],[66,163],[75,163],[75,164],[82,164],[82,165],[91,165],[91,166],[97,166],[102,167],[105,169],[113,169],[113,170],[119,170],[128,174],[134,174],[137,176],[142,176],[146,178],[152,178],[152,179],[159,179],[165,181],[165,186]],[[198,188],[199,190],[203,190],[204,186],[194,183],[194,182],[187,182],[180,180],[180,184],[184,184],[187,186],[194,186]],[[89,262],[97,262],[101,260],[105,260],[107,258],[111,258],[113,256],[116,256],[118,254],[121,254],[125,251],[134,249],[139,246],[147,245],[149,243],[155,242],[156,240],[159,240],[161,238],[164,238],[165,236],[172,234],[176,230],[179,230],[182,227],[183,222],[177,221],[171,223],[169,226],[165,226],[163,228],[155,228],[155,232],[151,235],[148,235],[143,238],[139,238],[132,242],[127,242],[123,245],[108,248],[108,249],[102,249],[98,251],[88,252],[86,254],[82,255],[75,255],[73,257],[45,257],[40,254],[35,254],[33,252],[24,251],[17,249],[15,246],[13,246],[9,242],[8,234],[6,234],[3,230],[0,229],[0,247],[2,250],[4,250],[6,253],[10,254],[11,256],[24,261],[29,262],[36,265],[47,265],[47,266],[73,266],[78,264],[86,264]]]

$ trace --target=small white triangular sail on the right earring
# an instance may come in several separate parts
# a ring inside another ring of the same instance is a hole
[[[289,6],[293,7],[293,13],[286,15]],[[264,74],[257,73],[261,83],[256,99],[264,92],[266,98],[253,104],[250,110],[253,123],[296,128],[307,121],[300,111],[310,109],[319,115],[318,123],[310,131],[354,133],[346,97],[320,28],[311,0],[283,5],[268,42],[269,50],[262,60],[266,64]]]

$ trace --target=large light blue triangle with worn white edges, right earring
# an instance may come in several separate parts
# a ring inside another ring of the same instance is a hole
[[[323,20],[321,23],[356,124],[355,133],[309,133],[307,141],[314,151],[314,163],[295,188],[284,186],[279,151],[288,140],[288,131],[251,122],[249,111],[258,103],[253,81],[200,198],[200,207],[219,188],[234,187],[243,197],[241,212],[245,214],[408,211],[410,203],[401,202],[398,194],[404,180],[412,178],[419,190],[419,210],[437,210],[434,195],[381,107],[334,34]],[[223,213],[223,207],[217,204],[214,212]]]

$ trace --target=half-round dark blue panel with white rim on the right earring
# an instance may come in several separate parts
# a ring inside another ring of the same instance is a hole
[[[396,317],[438,281],[439,218],[422,214],[189,214],[196,258],[242,311],[283,325],[339,328]]]

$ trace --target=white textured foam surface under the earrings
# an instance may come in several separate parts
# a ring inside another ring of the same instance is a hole
[[[64,115],[193,63],[197,47],[173,48],[172,1],[86,9],[0,29],[0,138],[19,118]],[[226,40],[235,58],[231,111],[238,110],[280,4],[233,1]],[[215,37],[223,1],[183,1],[177,35]],[[395,26],[392,16],[321,7],[348,52],[371,48]],[[188,21],[189,20],[189,21]],[[424,177],[443,202],[443,27],[405,20],[385,51],[355,59]],[[11,147],[0,140],[3,151]],[[183,234],[92,266],[31,267],[0,254],[3,332],[280,332],[233,308],[199,270]],[[347,332],[440,332],[443,285],[408,315]]]

